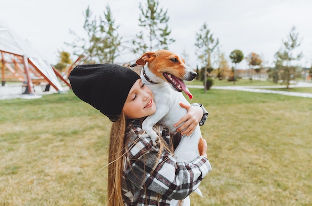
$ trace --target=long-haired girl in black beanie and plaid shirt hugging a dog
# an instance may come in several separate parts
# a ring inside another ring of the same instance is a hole
[[[116,64],[78,65],[69,76],[73,92],[112,122],[109,143],[109,206],[189,206],[189,194],[211,170],[207,143],[203,154],[191,163],[176,162],[174,146],[179,133],[156,125],[160,146],[141,129],[141,123],[156,111],[151,90],[133,70]],[[176,122],[178,132],[191,134],[205,121],[202,106],[187,106]],[[205,111],[205,110],[204,110]],[[204,116],[204,117],[203,117]],[[202,118],[203,117],[203,118]],[[178,200],[184,200],[179,202]]]

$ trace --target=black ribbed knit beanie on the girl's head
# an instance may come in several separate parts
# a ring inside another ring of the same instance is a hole
[[[85,64],[75,67],[68,79],[75,95],[117,121],[128,93],[140,76],[117,64]]]

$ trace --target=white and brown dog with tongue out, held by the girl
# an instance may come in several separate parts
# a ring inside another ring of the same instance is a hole
[[[150,87],[154,95],[156,112],[143,121],[142,129],[149,134],[153,145],[157,146],[159,137],[153,130],[153,126],[160,123],[168,127],[171,132],[176,132],[173,124],[187,113],[179,103],[190,105],[181,92],[184,91],[190,99],[193,98],[183,80],[192,81],[197,73],[185,64],[184,59],[168,50],[146,52],[132,66],[135,65],[143,66],[140,75],[142,82]],[[197,125],[190,136],[181,136],[174,157],[178,162],[191,162],[202,154],[203,146],[201,131]],[[195,192],[202,196],[199,189]]]

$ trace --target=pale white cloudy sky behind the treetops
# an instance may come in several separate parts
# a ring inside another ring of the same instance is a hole
[[[141,30],[139,2],[145,4],[146,0],[0,0],[0,20],[56,64],[58,51],[71,52],[64,44],[73,41],[69,29],[85,35],[83,13],[88,6],[94,15],[104,16],[109,4],[119,35],[129,39]],[[194,44],[195,34],[205,22],[227,58],[234,49],[245,56],[255,52],[262,55],[265,66],[273,65],[282,39],[296,26],[303,39],[301,65],[312,64],[312,0],[159,0],[159,5],[168,10],[171,37],[176,39],[169,50],[182,54],[185,49],[193,68],[201,66]],[[122,55],[119,60],[136,58]],[[246,68],[244,62],[237,68]]]

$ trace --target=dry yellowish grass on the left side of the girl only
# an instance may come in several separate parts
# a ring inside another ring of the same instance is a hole
[[[0,205],[103,205],[110,122],[81,101],[43,99],[2,102]]]

